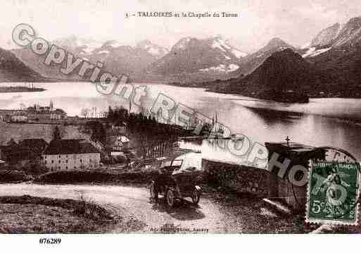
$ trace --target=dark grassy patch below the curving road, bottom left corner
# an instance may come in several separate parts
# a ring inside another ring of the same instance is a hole
[[[0,233],[123,233],[142,228],[125,223],[84,198],[0,197]]]

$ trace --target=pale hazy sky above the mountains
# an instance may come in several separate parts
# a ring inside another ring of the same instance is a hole
[[[2,0],[0,47],[11,49],[15,25],[27,23],[49,41],[76,35],[134,45],[142,39],[170,48],[183,37],[222,35],[252,52],[273,37],[301,46],[322,29],[361,16],[360,0]],[[236,18],[142,18],[126,13],[236,13]]]

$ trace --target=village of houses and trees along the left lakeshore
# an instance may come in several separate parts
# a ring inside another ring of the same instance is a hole
[[[122,108],[109,110],[106,115],[103,113],[105,117],[84,117],[87,116],[85,113],[82,118],[70,117],[63,109],[56,109],[53,101],[49,106],[34,104],[23,109],[1,109],[0,124],[30,129],[24,130],[26,136],[3,135],[7,139],[3,138],[0,145],[1,168],[25,172],[27,168],[42,168],[39,170],[44,172],[96,169],[105,165],[151,168],[157,159],[165,159],[171,149],[177,147],[177,137],[182,132],[178,126],[156,123],[154,118],[142,114],[129,116]],[[137,129],[139,122],[141,128],[149,128],[152,124],[155,128],[154,125],[159,124],[170,131],[167,137],[159,137],[157,144],[153,142],[156,135],[147,136],[146,131]],[[37,128],[47,130],[39,133]],[[145,140],[152,150],[147,149]]]

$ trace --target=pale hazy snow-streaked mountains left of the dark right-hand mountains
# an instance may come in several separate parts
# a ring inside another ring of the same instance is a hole
[[[74,35],[56,39],[53,44],[78,57],[96,63],[114,75],[129,75],[132,80],[213,80],[227,78],[239,68],[241,58],[247,54],[232,46],[222,37],[180,39],[170,50],[149,40],[135,47],[119,42],[100,43],[94,39],[82,39]],[[13,53],[27,66],[49,78],[80,80],[77,75],[65,76],[56,66],[44,66],[44,57],[34,55],[30,49],[13,49]],[[208,78],[209,77],[209,78]]]

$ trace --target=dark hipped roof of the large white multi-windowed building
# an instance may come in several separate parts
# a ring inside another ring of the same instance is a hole
[[[94,154],[100,153],[83,139],[52,140],[44,154]]]

